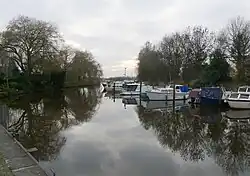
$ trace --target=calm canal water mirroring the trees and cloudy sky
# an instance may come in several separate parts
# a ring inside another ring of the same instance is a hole
[[[56,176],[249,176],[250,111],[66,89],[1,100],[1,123]]]

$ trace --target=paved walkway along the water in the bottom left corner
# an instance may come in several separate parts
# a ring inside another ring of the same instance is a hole
[[[0,171],[0,175],[3,176],[48,176],[36,160],[1,125]]]

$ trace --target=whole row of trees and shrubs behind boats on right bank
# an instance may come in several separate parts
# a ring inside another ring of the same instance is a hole
[[[146,42],[138,54],[138,79],[191,86],[250,83],[250,21],[237,17],[219,32],[203,26]]]

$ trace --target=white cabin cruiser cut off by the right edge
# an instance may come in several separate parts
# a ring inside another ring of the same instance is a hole
[[[228,105],[233,109],[250,109],[250,86],[241,86],[227,98]]]

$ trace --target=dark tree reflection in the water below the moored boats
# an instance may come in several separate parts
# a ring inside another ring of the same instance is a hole
[[[250,168],[250,125],[221,116],[217,107],[185,108],[159,113],[138,107],[146,130],[152,129],[161,145],[186,161],[214,158],[225,173],[239,175]]]

